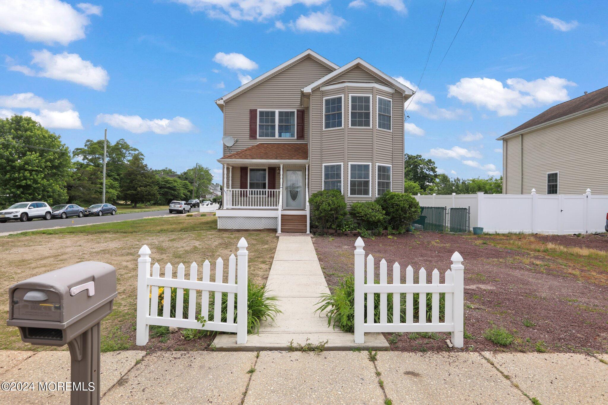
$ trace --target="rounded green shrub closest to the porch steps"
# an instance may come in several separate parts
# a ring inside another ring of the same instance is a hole
[[[347,216],[344,196],[338,190],[317,191],[308,199],[311,226],[320,229],[339,229]]]

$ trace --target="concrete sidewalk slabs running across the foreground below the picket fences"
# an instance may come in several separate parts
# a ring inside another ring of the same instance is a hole
[[[102,354],[102,403],[608,403],[608,365],[572,353],[144,352]],[[141,360],[140,360],[141,359]],[[508,376],[508,377],[507,377]],[[0,351],[1,381],[68,381],[69,353]],[[380,383],[382,381],[382,383]],[[2,392],[2,404],[69,392]]]

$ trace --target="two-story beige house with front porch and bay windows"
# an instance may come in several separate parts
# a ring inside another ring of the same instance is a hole
[[[404,101],[413,92],[357,58],[306,50],[215,101],[224,113],[218,228],[309,231],[308,197],[403,191]]]

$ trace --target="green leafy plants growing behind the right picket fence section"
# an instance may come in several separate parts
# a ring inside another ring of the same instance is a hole
[[[379,284],[376,280],[375,284]],[[374,322],[380,322],[380,294],[374,295]],[[446,294],[439,294],[439,321],[444,320],[444,309],[446,305]],[[406,321],[406,294],[401,294],[401,322]],[[413,294],[413,318],[418,319],[420,294]],[[333,325],[334,328],[339,327],[344,332],[354,332],[354,276],[349,274],[342,277],[338,282],[337,287],[333,287],[330,293],[321,295],[317,302],[315,312],[323,313],[327,311],[327,325]],[[367,294],[365,294],[365,302],[363,313],[367,314]],[[366,315],[364,315],[366,316]],[[427,322],[432,320],[432,300],[431,295],[426,296],[426,319]],[[387,294],[387,322],[393,322],[393,294]]]

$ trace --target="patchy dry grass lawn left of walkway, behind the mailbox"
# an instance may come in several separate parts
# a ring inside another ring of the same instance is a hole
[[[82,262],[97,260],[116,267],[118,297],[114,310],[102,321],[102,350],[203,350],[212,338],[185,341],[182,333],[168,334],[166,329],[150,329],[147,346],[135,346],[135,315],[137,285],[137,252],[146,244],[152,251],[152,264],[173,264],[176,276],[178,264],[184,262],[189,274],[190,263],[201,265],[209,259],[214,263],[224,259],[224,282],[231,253],[236,253],[237,243],[245,237],[249,243],[249,277],[265,283],[277,247],[277,237],[272,231],[218,231],[216,218],[158,217],[98,225],[72,226],[51,230],[32,231],[0,237],[0,349],[2,350],[67,350],[67,347],[41,347],[21,342],[15,327],[7,327],[8,290],[15,282],[50,270]],[[212,269],[215,268],[212,265]],[[212,270],[212,274],[215,274]],[[213,275],[211,276],[213,279]]]

